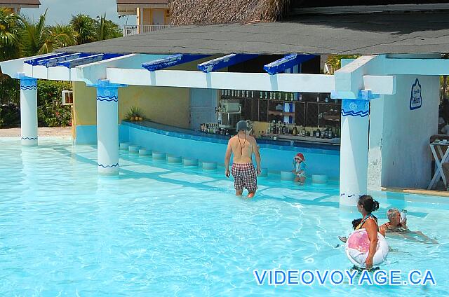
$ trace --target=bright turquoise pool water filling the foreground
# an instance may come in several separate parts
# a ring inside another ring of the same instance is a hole
[[[236,198],[222,167],[186,170],[121,152],[99,178],[96,149],[70,139],[22,148],[0,138],[0,296],[448,296],[447,198],[374,193],[385,221],[408,209],[412,230],[440,244],[389,238],[387,269],[431,269],[436,286],[257,286],[258,269],[347,269],[338,235],[351,219],[337,184],[260,179]]]

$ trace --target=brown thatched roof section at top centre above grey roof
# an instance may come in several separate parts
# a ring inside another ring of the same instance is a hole
[[[169,0],[172,25],[273,22],[286,13],[290,0]]]

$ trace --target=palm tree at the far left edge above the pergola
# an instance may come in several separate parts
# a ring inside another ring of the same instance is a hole
[[[0,60],[19,56],[19,18],[6,8],[0,8]]]

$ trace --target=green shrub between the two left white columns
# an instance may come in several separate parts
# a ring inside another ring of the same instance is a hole
[[[37,84],[37,119],[39,126],[65,127],[72,125],[72,109],[62,105],[61,93],[72,90],[65,81],[43,81]]]

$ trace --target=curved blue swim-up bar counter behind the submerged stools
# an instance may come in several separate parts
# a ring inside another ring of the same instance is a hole
[[[180,127],[153,123],[122,121],[121,141],[183,158],[224,163],[227,142],[232,135],[208,134]],[[311,138],[311,137],[310,137]],[[307,174],[338,177],[340,147],[305,141],[256,139],[260,146],[262,167],[269,171],[291,170],[293,156],[304,153]]]

